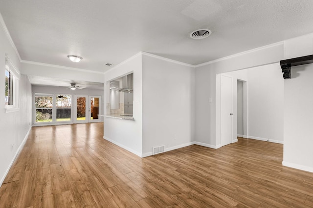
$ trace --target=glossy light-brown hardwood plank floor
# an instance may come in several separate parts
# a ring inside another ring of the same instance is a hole
[[[139,158],[103,123],[33,127],[0,207],[313,207],[313,173],[283,167],[281,144],[239,138]]]

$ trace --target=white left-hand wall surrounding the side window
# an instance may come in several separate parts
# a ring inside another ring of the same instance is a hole
[[[1,27],[2,26],[2,27]],[[13,64],[22,71],[19,57],[14,50],[0,16],[0,185],[2,184],[23,141],[31,128],[31,85],[28,77],[21,75],[19,80],[19,111],[5,113],[5,54],[7,53]],[[13,146],[13,147],[12,147]]]

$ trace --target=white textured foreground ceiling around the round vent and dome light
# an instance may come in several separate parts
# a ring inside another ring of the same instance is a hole
[[[100,72],[139,51],[196,65],[312,33],[312,11],[313,0],[0,0],[23,60]],[[212,35],[189,38],[202,28]]]

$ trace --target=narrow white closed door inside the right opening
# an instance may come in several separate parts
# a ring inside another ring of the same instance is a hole
[[[222,75],[221,80],[221,146],[232,142],[233,78]]]

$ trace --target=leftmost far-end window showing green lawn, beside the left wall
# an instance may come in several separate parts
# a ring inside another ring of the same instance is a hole
[[[51,122],[53,95],[35,94],[36,122]]]

